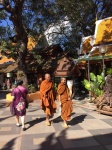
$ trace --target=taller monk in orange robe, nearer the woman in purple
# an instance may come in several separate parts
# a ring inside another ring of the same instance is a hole
[[[46,113],[46,125],[50,126],[49,117],[56,111],[55,92],[50,74],[45,74],[45,80],[40,85],[41,107]]]

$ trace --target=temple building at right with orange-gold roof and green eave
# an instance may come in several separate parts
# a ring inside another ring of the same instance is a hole
[[[85,70],[88,76],[88,63],[90,72],[101,74],[103,70],[102,53],[100,49],[105,48],[104,64],[106,69],[112,67],[112,17],[96,21],[95,34],[82,38],[77,65]],[[89,61],[89,62],[88,62]]]

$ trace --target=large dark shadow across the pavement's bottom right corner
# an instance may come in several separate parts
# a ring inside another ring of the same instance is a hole
[[[66,131],[63,130],[58,137],[55,136],[55,133],[49,135],[46,141],[41,143],[39,150],[107,150],[105,145],[111,144],[112,133],[93,137],[67,139]],[[92,140],[93,143],[91,143]]]

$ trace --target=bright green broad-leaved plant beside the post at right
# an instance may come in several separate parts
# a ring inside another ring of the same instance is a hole
[[[90,82],[86,79],[82,82],[84,87],[90,91],[94,96],[100,96],[103,93],[104,80],[102,75],[95,76],[94,73],[90,73]]]

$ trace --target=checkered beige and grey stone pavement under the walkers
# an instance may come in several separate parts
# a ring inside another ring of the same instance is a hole
[[[79,107],[74,103],[69,128],[64,129],[59,112],[45,125],[39,101],[30,103],[26,131],[15,126],[5,101],[0,100],[1,150],[112,150],[112,117]]]

